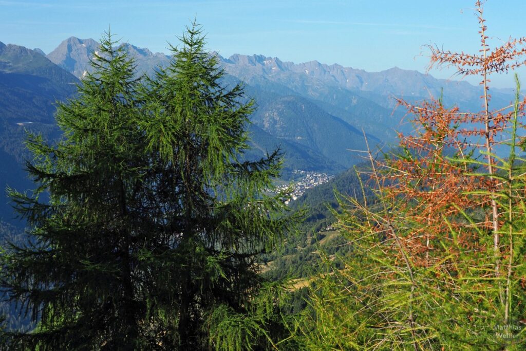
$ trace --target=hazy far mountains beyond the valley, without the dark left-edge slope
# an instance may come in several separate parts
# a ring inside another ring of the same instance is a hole
[[[169,61],[165,54],[154,54],[128,43],[123,45],[136,58],[140,73],[149,74],[155,66],[165,66]],[[96,46],[93,39],[71,37],[47,57],[82,77],[89,69],[89,57]],[[383,143],[396,141],[397,131],[411,130],[412,126],[403,120],[405,111],[401,108],[393,111],[395,96],[420,101],[429,96],[439,97],[443,91],[446,105],[455,102],[470,111],[480,109],[480,87],[397,67],[366,72],[317,61],[295,64],[264,55],[219,58],[229,76],[248,84],[247,92],[259,105],[252,119],[260,128],[289,145],[309,147],[340,166],[349,165],[345,157],[347,148],[364,147],[362,130],[371,140]],[[298,102],[300,98],[304,99],[302,103]],[[510,92],[492,91],[495,105],[504,106],[511,99]],[[308,106],[308,112],[301,112],[295,107],[298,104]],[[338,125],[336,120],[345,124]],[[336,137],[334,133],[341,135]],[[333,137],[327,137],[330,135]]]

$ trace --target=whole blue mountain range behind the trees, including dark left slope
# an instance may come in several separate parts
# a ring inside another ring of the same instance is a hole
[[[129,43],[122,46],[135,57],[138,74],[151,74],[171,59]],[[31,185],[16,166],[29,157],[22,145],[24,130],[59,137],[56,101],[74,96],[97,47],[94,39],[70,37],[44,55],[39,49],[0,42],[0,161],[10,165],[0,172],[0,186]],[[396,141],[396,131],[409,131],[411,126],[403,122],[403,111],[393,112],[393,96],[418,101],[443,91],[445,104],[456,101],[461,108],[480,109],[479,87],[417,71],[395,67],[371,73],[317,61],[295,64],[264,55],[217,55],[227,73],[224,84],[245,82],[247,95],[257,102],[247,157],[260,157],[280,146],[286,174],[293,169],[343,171],[361,161],[349,149],[365,148],[364,133],[370,145]],[[492,96],[495,104],[512,99],[508,91],[494,90]],[[8,205],[0,202],[0,218],[6,213]]]

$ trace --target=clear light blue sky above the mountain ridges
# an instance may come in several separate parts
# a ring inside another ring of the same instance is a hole
[[[264,54],[370,72],[393,66],[424,72],[429,52],[422,45],[478,52],[473,7],[473,0],[0,0],[0,41],[49,53],[69,36],[98,39],[111,25],[123,41],[167,52],[166,43],[177,44],[176,35],[197,17],[209,49],[222,56]],[[491,42],[526,36],[525,13],[524,1],[489,0]],[[453,72],[430,73],[449,78]],[[526,70],[519,74],[526,79]],[[495,87],[513,85],[510,74],[492,80]]]

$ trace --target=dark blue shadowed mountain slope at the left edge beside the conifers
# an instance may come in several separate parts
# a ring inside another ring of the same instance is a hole
[[[23,170],[31,159],[23,143],[26,130],[48,139],[58,137],[55,102],[76,92],[78,79],[58,67],[41,53],[18,45],[0,43],[0,224],[15,214],[5,198],[7,185],[26,190],[34,188]],[[0,225],[0,227],[2,227]]]

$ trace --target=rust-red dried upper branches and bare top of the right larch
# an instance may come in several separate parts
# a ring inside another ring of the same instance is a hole
[[[499,275],[499,230],[504,218],[499,218],[503,209],[495,194],[504,183],[497,177],[495,146],[505,142],[501,139],[510,128],[514,110],[510,104],[490,111],[489,75],[526,64],[526,37],[510,39],[491,50],[483,3],[479,0],[475,4],[480,25],[479,54],[429,46],[429,69],[453,66],[462,77],[481,76],[482,110],[461,112],[458,107],[444,107],[439,99],[420,105],[398,99],[398,105],[413,116],[416,129],[411,134],[399,134],[399,151],[379,162],[383,172],[374,176],[379,178],[382,196],[390,206],[400,206],[397,213],[413,223],[400,241],[414,264],[428,265],[433,258],[443,256],[434,253],[437,247],[433,243],[437,238],[447,239],[444,236],[451,230],[459,233],[457,239],[462,247],[482,249],[478,236],[483,229],[493,235],[495,274]],[[525,103],[526,99],[519,103],[520,115],[524,114]],[[484,214],[479,222],[467,223],[463,214],[477,210]],[[472,230],[474,226],[478,230]]]

